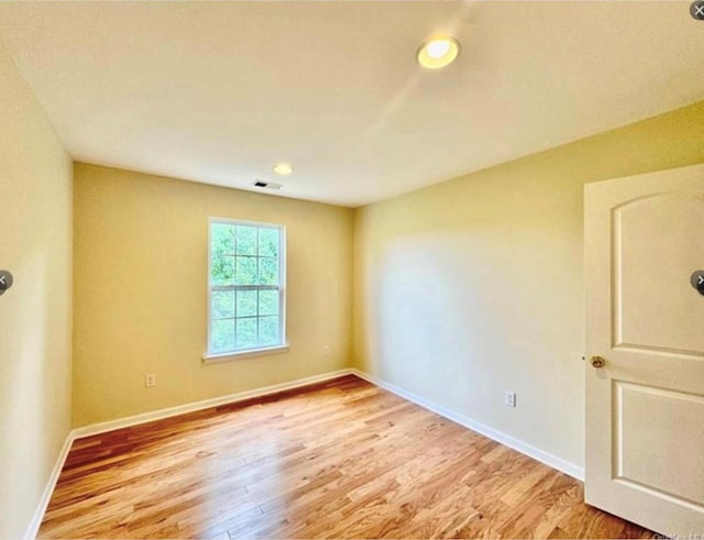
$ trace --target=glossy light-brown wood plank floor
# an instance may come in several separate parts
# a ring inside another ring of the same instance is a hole
[[[41,538],[652,538],[354,376],[76,441]]]

